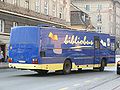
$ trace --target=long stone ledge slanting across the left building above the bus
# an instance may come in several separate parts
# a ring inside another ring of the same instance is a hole
[[[13,12],[17,15],[33,17],[33,19],[36,19],[36,20],[38,19],[38,20],[41,20],[43,22],[48,22],[48,23],[58,24],[58,25],[63,25],[63,26],[67,25],[66,21],[63,19],[48,16],[48,15],[45,15],[42,13],[36,13],[35,11],[29,10],[29,9],[26,9],[23,7],[18,7],[16,5],[9,4],[6,2],[2,2],[2,1],[0,1],[0,9],[5,10],[5,11],[9,11],[9,12]]]

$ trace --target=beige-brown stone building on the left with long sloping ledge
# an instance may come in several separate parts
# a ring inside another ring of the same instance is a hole
[[[10,29],[14,26],[70,25],[70,0],[0,0],[0,51],[7,56]]]

